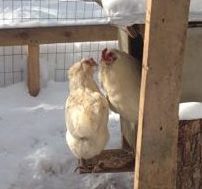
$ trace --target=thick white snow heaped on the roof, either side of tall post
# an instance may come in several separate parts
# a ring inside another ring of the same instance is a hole
[[[121,26],[144,23],[145,0],[102,0],[108,21]],[[189,21],[202,21],[202,1],[191,0]]]

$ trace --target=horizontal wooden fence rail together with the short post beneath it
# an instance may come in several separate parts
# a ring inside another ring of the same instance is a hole
[[[102,32],[101,32],[102,31]],[[0,29],[0,46],[28,45],[28,90],[40,91],[40,44],[117,40],[117,28],[111,25],[51,26]]]

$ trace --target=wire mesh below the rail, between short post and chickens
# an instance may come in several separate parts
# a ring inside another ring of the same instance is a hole
[[[49,68],[49,79],[66,81],[66,70],[69,66],[82,58],[92,57],[99,62],[104,48],[118,48],[117,41],[63,43],[41,45],[41,70]],[[47,65],[48,64],[48,65]],[[46,73],[42,73],[47,75]]]

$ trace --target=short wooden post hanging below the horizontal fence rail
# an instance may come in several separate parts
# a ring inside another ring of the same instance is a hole
[[[28,45],[27,85],[31,96],[37,96],[40,90],[39,44]]]

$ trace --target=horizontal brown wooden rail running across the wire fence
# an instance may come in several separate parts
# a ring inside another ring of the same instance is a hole
[[[0,46],[117,40],[110,25],[8,28],[0,30]]]

